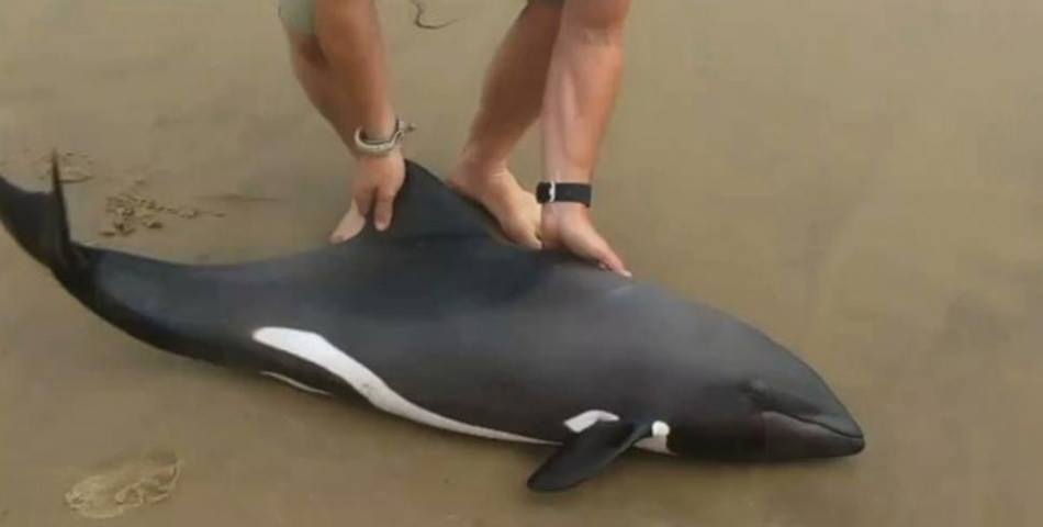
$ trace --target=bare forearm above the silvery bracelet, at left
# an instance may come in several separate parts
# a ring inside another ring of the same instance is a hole
[[[350,115],[337,122],[356,123],[369,137],[394,132],[395,112],[389,92],[383,38],[372,0],[316,0],[315,26],[328,67],[344,90]],[[354,130],[338,131],[349,142]],[[350,143],[349,143],[350,145]]]

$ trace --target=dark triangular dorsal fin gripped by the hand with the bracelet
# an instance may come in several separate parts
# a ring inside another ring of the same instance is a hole
[[[394,238],[430,236],[490,236],[494,224],[475,204],[453,192],[437,176],[406,161],[406,177],[395,198],[391,226],[382,233]],[[367,229],[372,222],[367,222]]]

